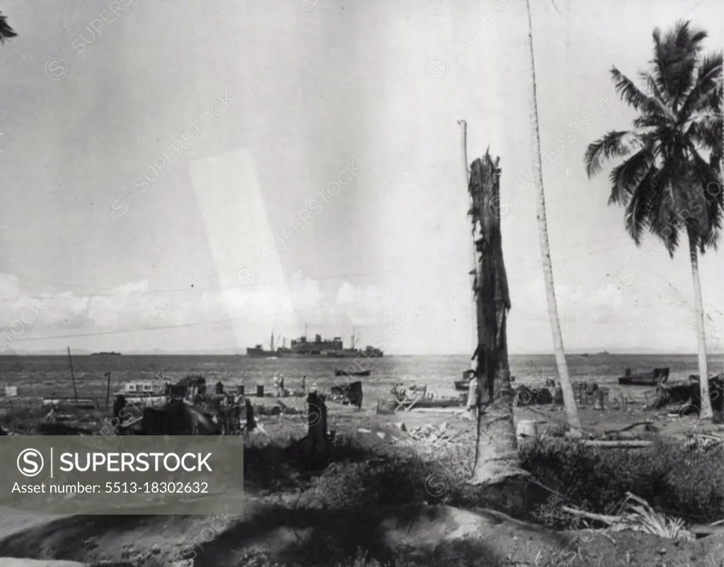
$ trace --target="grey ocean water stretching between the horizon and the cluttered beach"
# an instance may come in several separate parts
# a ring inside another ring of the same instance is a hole
[[[329,358],[246,358],[245,356],[74,356],[73,372],[81,397],[105,397],[106,372],[111,373],[111,393],[122,389],[124,382],[160,377],[175,382],[187,374],[202,374],[209,384],[221,380],[227,387],[245,384],[248,392],[257,384],[271,390],[272,377],[285,375],[285,387],[299,389],[306,375],[306,385],[316,383],[327,389],[335,385],[334,369],[343,369],[353,359]],[[633,373],[654,367],[670,366],[673,379],[698,374],[696,356],[690,355],[569,355],[568,371],[574,381],[616,384],[624,369]],[[365,360],[371,377],[361,378],[366,394],[372,399],[382,397],[392,385],[427,385],[439,395],[456,395],[453,382],[469,368],[467,356],[385,356]],[[542,382],[546,377],[557,379],[555,357],[510,356],[510,370],[515,385]],[[724,356],[709,357],[710,374],[724,370]],[[67,356],[0,356],[0,387],[17,386],[19,396],[72,396],[70,364]],[[342,382],[343,379],[337,379]],[[366,399],[369,399],[366,396]],[[367,403],[365,404],[367,405]]]

